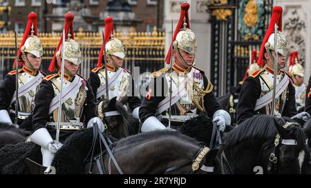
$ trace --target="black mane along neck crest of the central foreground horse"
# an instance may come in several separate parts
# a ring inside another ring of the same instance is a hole
[[[129,136],[126,138],[122,138],[121,140],[117,142],[117,146],[118,147],[129,146],[137,142],[140,142],[141,140],[148,142],[149,140],[158,139],[158,138],[167,138],[169,136],[180,138],[182,139],[183,142],[193,143],[194,145],[200,145],[200,143],[194,138],[190,138],[189,136],[180,134],[179,132],[171,131],[171,130],[156,130],[152,132],[144,132],[144,133],[135,134],[133,136]]]

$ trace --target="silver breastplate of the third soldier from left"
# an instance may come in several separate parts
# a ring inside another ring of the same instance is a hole
[[[122,69],[122,67],[120,67],[120,69]],[[112,71],[108,70],[107,74],[108,74],[108,80],[111,81],[111,78],[113,78],[113,76],[115,74],[117,74],[117,72],[112,72]],[[98,76],[100,77],[100,86],[105,85],[106,84],[105,70],[104,69],[100,70],[98,73]],[[122,69],[122,72],[120,73],[119,76],[117,76],[117,79],[115,79],[113,81],[113,83],[111,83],[112,87],[109,86],[109,88],[110,88],[109,89],[109,99],[116,96],[117,101],[120,101],[120,99],[122,97],[126,96],[128,90],[129,90],[130,78],[131,78],[131,74],[129,74],[129,72],[126,72],[126,70]],[[105,92],[105,94],[106,94],[106,92]]]

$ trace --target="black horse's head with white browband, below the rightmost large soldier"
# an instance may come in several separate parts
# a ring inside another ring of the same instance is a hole
[[[266,152],[267,172],[301,174],[303,165],[310,160],[306,136],[299,123],[290,118],[274,118],[276,136],[271,144],[272,152]]]

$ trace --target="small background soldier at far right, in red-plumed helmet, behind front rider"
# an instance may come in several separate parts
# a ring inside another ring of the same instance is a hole
[[[290,67],[288,72],[294,81],[297,110],[298,112],[301,110],[303,111],[303,108],[305,107],[305,90],[307,85],[303,83],[305,70],[303,69],[303,66],[298,63],[297,51],[290,53]]]

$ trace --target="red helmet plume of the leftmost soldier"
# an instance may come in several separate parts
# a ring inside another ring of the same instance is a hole
[[[25,32],[23,33],[23,39],[21,40],[21,45],[19,45],[19,51],[17,52],[18,56],[18,61],[19,61],[19,66],[22,65],[23,61],[21,61],[21,47],[25,44],[26,39],[28,36],[30,36],[32,33],[31,27],[33,24],[33,35],[38,36],[38,28],[37,28],[37,13],[36,12],[30,12],[28,14],[28,23],[26,25]],[[14,66],[15,66],[15,61],[14,61]]]

